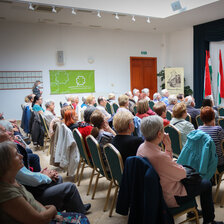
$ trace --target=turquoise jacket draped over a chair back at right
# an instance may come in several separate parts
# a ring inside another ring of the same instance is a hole
[[[190,132],[177,163],[193,167],[202,178],[210,180],[218,164],[215,143],[212,138],[201,130]]]

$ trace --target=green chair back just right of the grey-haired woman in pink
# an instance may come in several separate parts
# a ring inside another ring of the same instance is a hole
[[[181,133],[172,124],[167,125],[164,128],[165,132],[169,134],[171,140],[171,146],[173,154],[178,157],[182,149]]]

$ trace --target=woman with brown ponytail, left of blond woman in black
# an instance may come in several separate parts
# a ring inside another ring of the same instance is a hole
[[[99,142],[103,153],[103,146],[111,143],[116,133],[110,128],[105,116],[99,110],[92,113],[90,123],[93,125],[91,135]]]

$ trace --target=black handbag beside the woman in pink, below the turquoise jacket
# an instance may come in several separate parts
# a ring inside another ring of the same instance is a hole
[[[186,170],[186,177],[180,181],[183,185],[198,185],[201,183],[202,177],[194,168],[187,165],[183,165],[183,167]]]

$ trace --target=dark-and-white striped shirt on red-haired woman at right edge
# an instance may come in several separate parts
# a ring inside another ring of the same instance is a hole
[[[220,126],[199,126],[198,129],[209,134],[216,146],[216,153],[218,156],[218,166],[224,165],[224,155],[222,153],[221,142],[224,139],[224,131]]]

